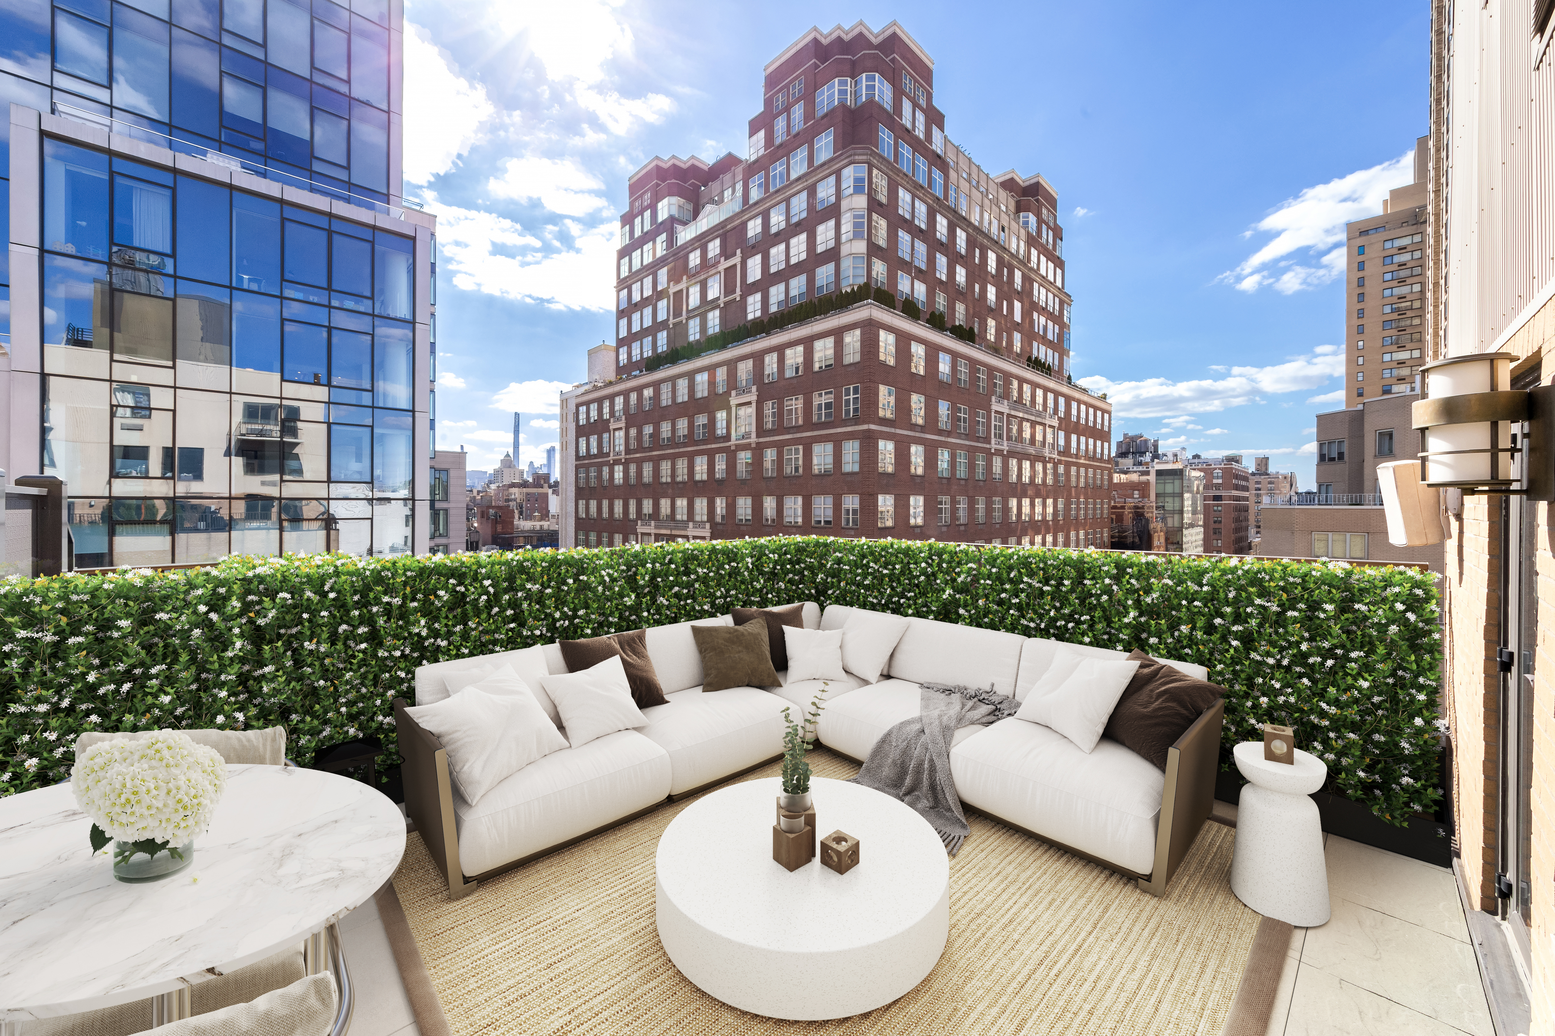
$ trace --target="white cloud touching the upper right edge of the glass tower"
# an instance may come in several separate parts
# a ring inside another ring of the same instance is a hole
[[[484,85],[454,75],[425,28],[404,28],[404,179],[426,183],[468,154],[496,109]]]

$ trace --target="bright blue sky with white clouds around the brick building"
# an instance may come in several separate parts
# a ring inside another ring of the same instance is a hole
[[[1115,436],[1270,454],[1312,486],[1342,405],[1344,224],[1413,179],[1429,11],[1412,3],[712,5],[407,0],[406,194],[439,216],[439,446],[491,468],[557,433],[613,332],[627,176],[745,146],[812,25],[899,20],[945,132],[1057,189],[1076,379]]]

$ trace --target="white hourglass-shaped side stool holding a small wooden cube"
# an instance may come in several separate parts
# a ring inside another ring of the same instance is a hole
[[[1308,795],[1323,786],[1328,767],[1300,749],[1295,764],[1270,763],[1263,752],[1263,741],[1233,749],[1252,784],[1236,806],[1232,892],[1267,918],[1316,927],[1328,921],[1328,868],[1317,803]]]

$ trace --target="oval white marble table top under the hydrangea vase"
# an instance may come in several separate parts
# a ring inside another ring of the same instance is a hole
[[[142,1000],[252,965],[367,901],[404,853],[404,817],[336,774],[229,766],[194,862],[114,879],[68,784],[0,798],[0,1020]]]

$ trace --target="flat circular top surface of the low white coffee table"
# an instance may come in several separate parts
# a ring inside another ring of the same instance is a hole
[[[945,895],[945,847],[910,806],[861,784],[813,778],[818,837],[858,839],[846,874],[819,857],[773,860],[778,777],[742,781],[681,811],[659,837],[659,888],[694,924],[785,954],[866,947],[917,924]]]

